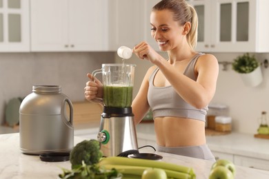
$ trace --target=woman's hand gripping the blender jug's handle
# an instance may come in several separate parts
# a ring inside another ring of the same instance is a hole
[[[103,98],[103,84],[92,74],[87,74],[90,79],[84,87],[84,95],[88,101],[92,101],[94,98]]]

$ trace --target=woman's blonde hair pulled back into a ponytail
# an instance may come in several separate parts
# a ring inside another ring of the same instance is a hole
[[[170,10],[174,14],[173,20],[178,21],[179,25],[190,22],[190,32],[188,32],[186,37],[190,47],[192,49],[196,48],[198,17],[195,8],[190,6],[185,0],[162,0],[153,6],[152,11],[155,10]]]

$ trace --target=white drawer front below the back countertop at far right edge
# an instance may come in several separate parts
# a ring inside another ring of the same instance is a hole
[[[263,169],[269,171],[269,160],[235,155],[234,163],[235,165],[241,165],[243,167],[250,167],[254,169]]]

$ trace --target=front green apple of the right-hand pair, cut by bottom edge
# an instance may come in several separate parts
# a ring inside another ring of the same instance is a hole
[[[210,171],[209,179],[234,179],[234,175],[228,168],[219,165]]]

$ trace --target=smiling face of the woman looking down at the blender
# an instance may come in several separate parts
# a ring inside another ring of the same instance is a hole
[[[182,42],[183,26],[174,21],[170,10],[152,11],[150,14],[151,36],[161,51],[177,48]]]

